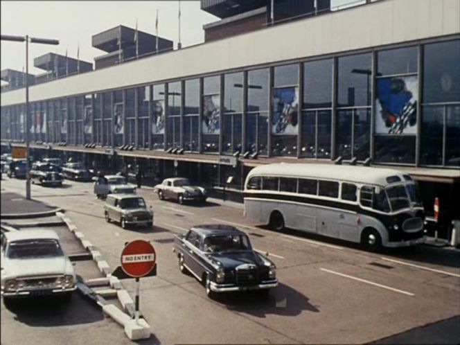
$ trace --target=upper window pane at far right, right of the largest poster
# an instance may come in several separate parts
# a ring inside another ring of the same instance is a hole
[[[427,44],[423,57],[423,103],[460,100],[460,39]]]

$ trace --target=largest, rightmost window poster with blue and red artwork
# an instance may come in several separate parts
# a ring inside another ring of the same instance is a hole
[[[416,134],[418,78],[378,78],[375,91],[375,133]]]

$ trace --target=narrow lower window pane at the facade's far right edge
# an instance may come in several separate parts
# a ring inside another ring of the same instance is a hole
[[[460,105],[447,107],[445,165],[460,166]]]

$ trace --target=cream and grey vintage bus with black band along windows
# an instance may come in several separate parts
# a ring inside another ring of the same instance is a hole
[[[418,186],[398,170],[276,163],[245,182],[245,216],[281,231],[317,233],[377,250],[418,245],[425,213]]]

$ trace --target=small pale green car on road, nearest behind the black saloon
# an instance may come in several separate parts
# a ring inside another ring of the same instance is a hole
[[[109,194],[104,205],[104,216],[107,222],[115,221],[123,229],[130,225],[152,227],[153,211],[145,205],[143,197],[134,194]]]

